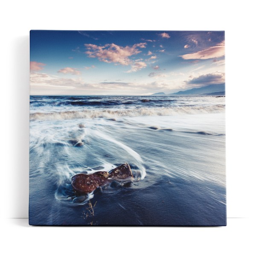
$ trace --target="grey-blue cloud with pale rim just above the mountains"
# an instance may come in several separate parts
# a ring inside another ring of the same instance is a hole
[[[192,77],[191,77],[192,78]],[[187,84],[222,84],[225,82],[225,73],[209,73],[198,77],[193,77]]]

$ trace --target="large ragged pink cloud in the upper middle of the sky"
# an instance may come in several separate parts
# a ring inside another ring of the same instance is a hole
[[[116,44],[105,44],[104,46],[84,44],[87,48],[85,53],[89,58],[98,58],[99,61],[114,62],[126,66],[132,63],[129,57],[140,53],[141,51],[138,48],[145,48],[145,45],[146,43],[139,43],[134,44],[132,47],[122,47]]]

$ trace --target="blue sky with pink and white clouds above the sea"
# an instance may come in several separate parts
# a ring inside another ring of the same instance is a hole
[[[30,31],[31,95],[151,95],[225,82],[224,31]]]

